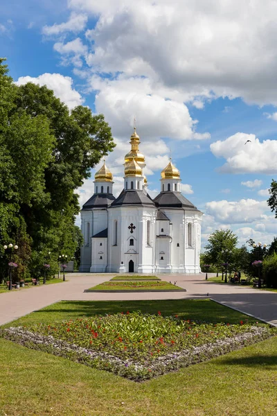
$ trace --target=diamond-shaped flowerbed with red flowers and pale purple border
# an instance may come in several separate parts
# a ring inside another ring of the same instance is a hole
[[[276,334],[269,325],[193,322],[139,311],[0,330],[26,347],[134,381],[206,361]]]

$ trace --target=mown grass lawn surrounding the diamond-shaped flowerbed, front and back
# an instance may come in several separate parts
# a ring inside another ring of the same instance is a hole
[[[236,323],[251,318],[210,300],[60,302],[13,324],[95,314],[177,313]],[[6,327],[10,324],[6,325]],[[134,383],[0,339],[0,415],[275,416],[277,337],[145,383]]]

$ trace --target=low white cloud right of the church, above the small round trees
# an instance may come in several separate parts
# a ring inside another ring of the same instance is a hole
[[[242,199],[229,202],[226,200],[206,203],[206,214],[215,218],[217,223],[242,224],[262,220],[268,210],[266,201]]]

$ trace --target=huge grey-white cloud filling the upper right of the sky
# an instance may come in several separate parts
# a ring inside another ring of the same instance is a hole
[[[97,17],[87,37],[90,64],[102,72],[151,76],[197,101],[277,104],[276,1],[141,0],[138,8],[135,0],[69,0],[69,7]]]

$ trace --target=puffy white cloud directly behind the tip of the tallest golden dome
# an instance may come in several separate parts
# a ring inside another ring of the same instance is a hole
[[[126,137],[133,124],[143,139],[157,141],[160,137],[176,140],[208,139],[208,133],[197,133],[197,121],[188,107],[179,101],[166,99],[148,78],[102,80],[91,78],[91,89],[96,90],[96,111],[104,112],[116,137]],[[161,141],[159,142],[161,144]]]

